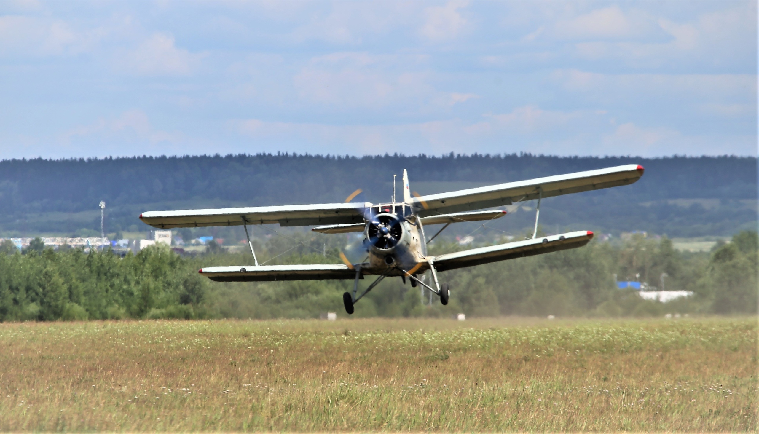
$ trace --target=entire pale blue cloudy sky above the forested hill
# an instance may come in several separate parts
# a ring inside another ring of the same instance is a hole
[[[0,2],[0,159],[757,155],[757,2]]]

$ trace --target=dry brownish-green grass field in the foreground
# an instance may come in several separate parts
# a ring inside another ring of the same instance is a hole
[[[751,431],[757,320],[0,324],[4,431]]]

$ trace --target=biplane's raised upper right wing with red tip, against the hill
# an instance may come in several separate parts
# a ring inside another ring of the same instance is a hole
[[[412,200],[417,213],[426,217],[440,212],[458,212],[510,205],[522,200],[632,184],[643,176],[641,165],[620,165],[568,175],[546,176],[528,181],[507,182],[487,187],[428,194]]]

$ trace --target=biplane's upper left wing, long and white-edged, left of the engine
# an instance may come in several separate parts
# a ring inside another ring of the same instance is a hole
[[[199,226],[338,225],[363,223],[364,209],[371,203],[320,203],[316,205],[253,206],[248,208],[184,209],[148,211],[140,220],[154,228],[197,228]]]

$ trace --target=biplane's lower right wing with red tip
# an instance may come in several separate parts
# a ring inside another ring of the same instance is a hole
[[[435,268],[438,271],[446,271],[494,263],[506,259],[540,255],[555,252],[556,250],[574,249],[575,247],[584,246],[588,241],[591,241],[591,238],[593,238],[593,232],[591,231],[576,231],[567,234],[551,235],[550,237],[540,237],[534,240],[515,241],[513,243],[480,247],[462,252],[446,253],[435,256]]]

